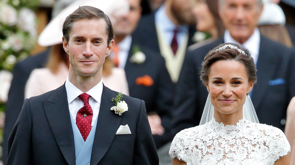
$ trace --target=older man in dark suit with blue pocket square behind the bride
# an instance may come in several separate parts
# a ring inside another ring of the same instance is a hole
[[[250,93],[260,123],[284,130],[286,110],[295,95],[294,49],[261,36],[256,27],[261,0],[220,0],[219,15],[226,27],[223,38],[186,54],[175,98],[174,134],[199,125],[207,89],[199,79],[205,55],[220,43],[247,48],[257,67],[257,83]]]

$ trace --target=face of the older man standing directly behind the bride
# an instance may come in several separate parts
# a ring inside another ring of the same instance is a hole
[[[219,4],[219,16],[232,38],[244,43],[254,33],[262,8],[258,0],[223,0]]]

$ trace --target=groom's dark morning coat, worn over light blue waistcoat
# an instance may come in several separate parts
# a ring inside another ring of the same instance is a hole
[[[118,92],[103,87],[90,164],[159,164],[145,104],[123,95],[128,111],[110,108]],[[26,99],[8,140],[7,164],[76,164],[74,135],[65,85]],[[118,134],[128,124],[131,134]]]

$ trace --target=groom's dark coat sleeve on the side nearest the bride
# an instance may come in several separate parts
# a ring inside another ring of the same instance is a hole
[[[145,103],[141,100],[140,112],[136,127],[133,164],[159,164],[159,157],[153,141]]]

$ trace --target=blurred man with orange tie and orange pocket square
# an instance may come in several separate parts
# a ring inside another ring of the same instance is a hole
[[[159,53],[137,44],[131,36],[141,16],[140,0],[127,0],[130,11],[113,23],[115,46],[111,53],[117,67],[126,73],[131,97],[145,101],[148,119],[157,148],[171,140],[173,83]]]

